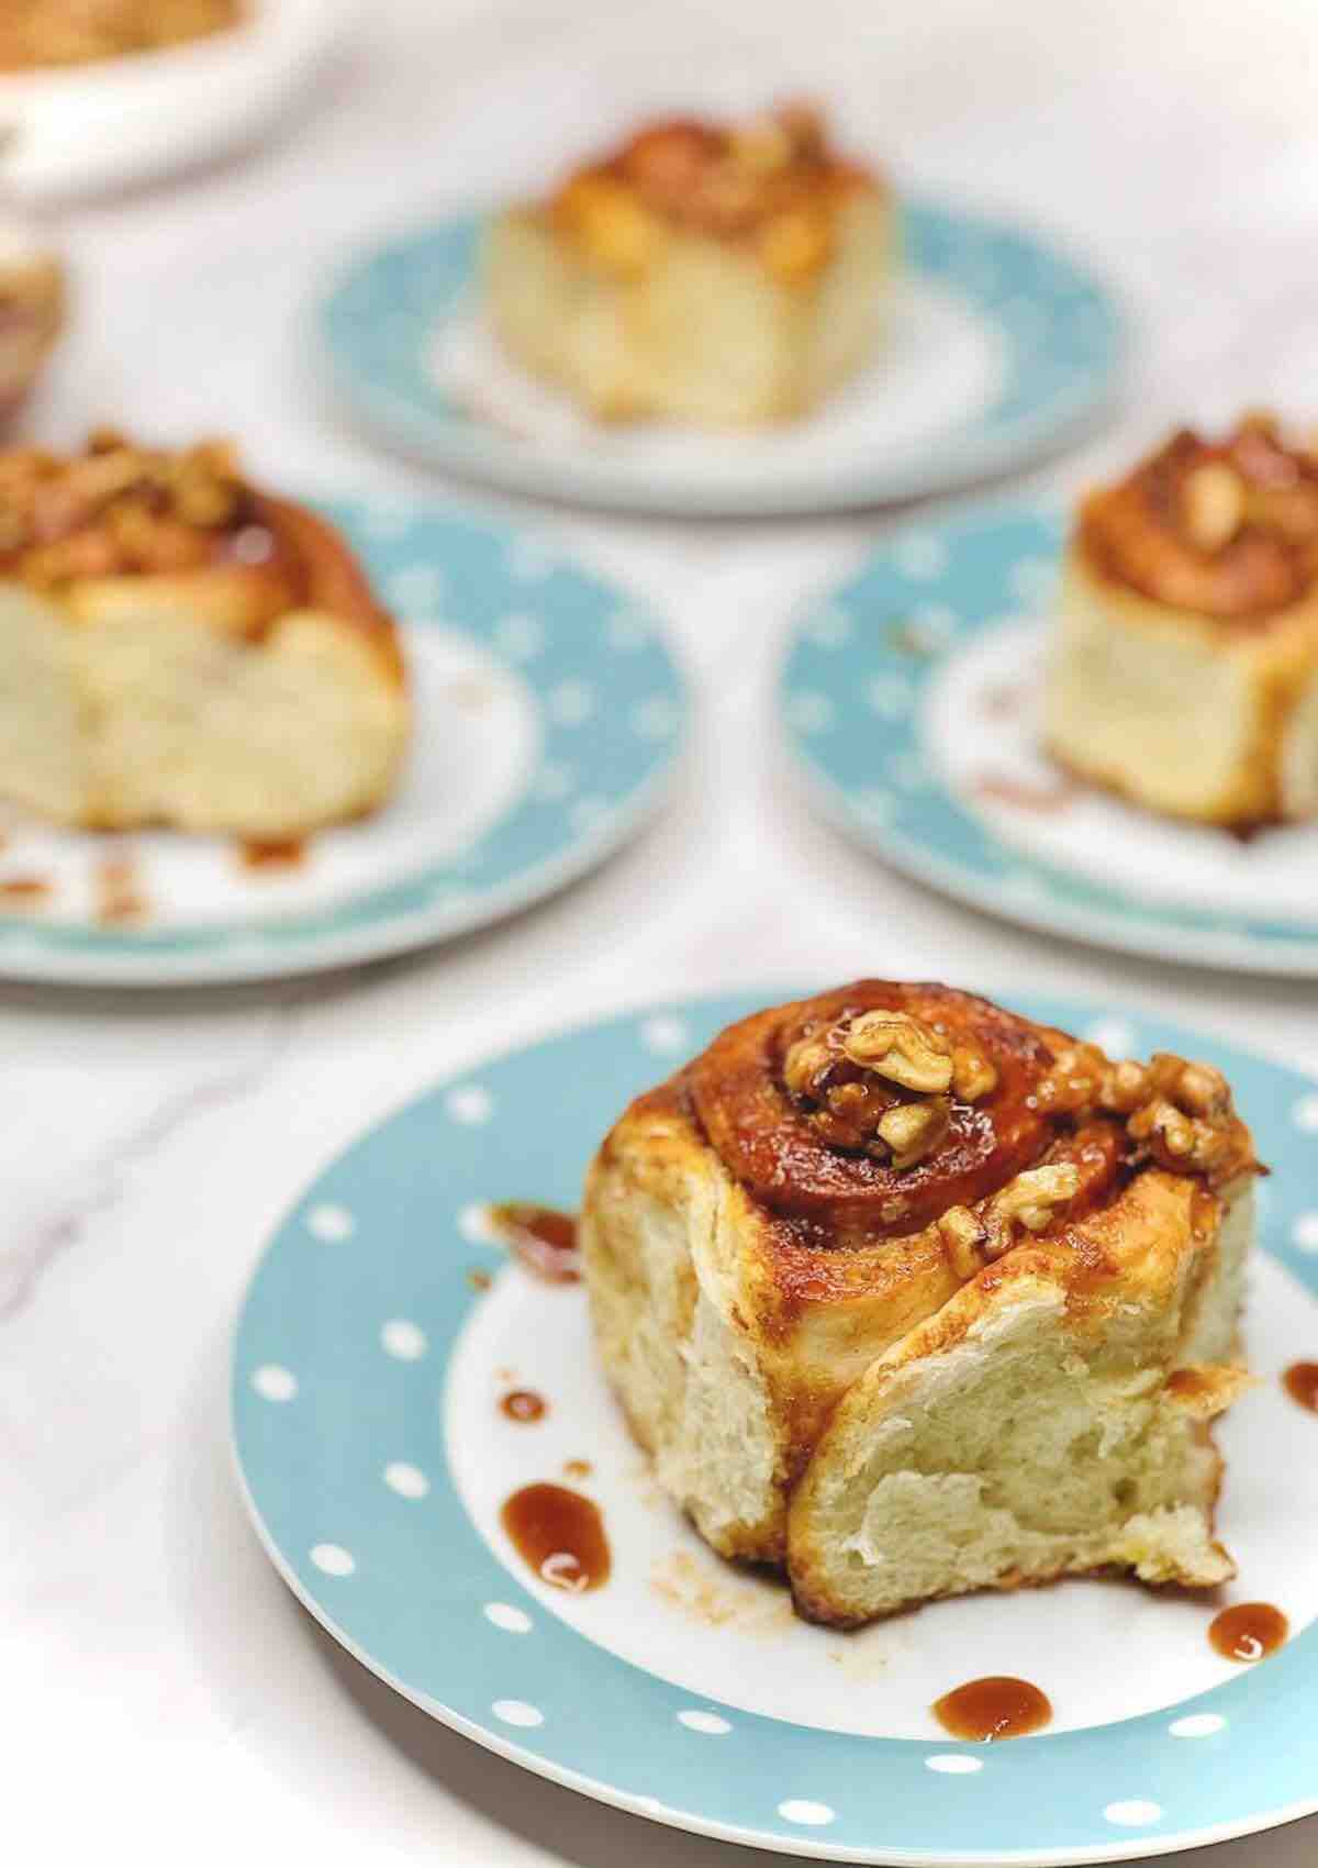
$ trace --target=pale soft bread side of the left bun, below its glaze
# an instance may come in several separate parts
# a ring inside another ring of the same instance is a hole
[[[67,824],[291,837],[375,809],[407,695],[321,611],[259,644],[170,596],[65,611],[0,585],[0,794]]]

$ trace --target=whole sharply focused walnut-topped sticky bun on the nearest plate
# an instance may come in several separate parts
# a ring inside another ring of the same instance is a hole
[[[609,1134],[599,1354],[663,1489],[810,1620],[1217,1584],[1256,1171],[1208,1065],[857,981],[732,1026]]]

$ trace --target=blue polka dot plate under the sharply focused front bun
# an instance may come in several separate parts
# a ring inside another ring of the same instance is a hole
[[[876,956],[881,964],[881,956]],[[801,990],[801,988],[797,988]],[[778,994],[786,996],[786,994]],[[274,1233],[237,1324],[237,1463],[261,1541],[327,1629],[435,1719],[637,1816],[829,1861],[1047,1868],[1131,1861],[1318,1808],[1318,1422],[1281,1371],[1318,1356],[1318,1087],[1070,1001],[1025,1011],[1116,1052],[1206,1055],[1273,1179],[1228,1420],[1238,1601],[1292,1638],[1256,1666],[1217,1603],[1085,1580],[969,1597],[859,1634],[713,1556],[650,1483],[596,1369],[581,1285],[504,1257],[489,1203],[573,1207],[624,1104],[765,996],[668,1005],[497,1057],[334,1160]],[[538,1397],[504,1407],[510,1394]],[[603,1515],[603,1588],[554,1586],[502,1528],[525,1485]],[[950,1741],[930,1707],[1025,1674],[1038,1737]]]

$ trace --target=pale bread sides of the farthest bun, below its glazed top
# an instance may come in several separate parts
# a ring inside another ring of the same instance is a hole
[[[502,215],[485,243],[491,318],[517,362],[601,420],[715,428],[790,418],[861,370],[890,269],[890,207],[870,189],[836,209],[833,256],[799,284],[691,232],[668,232],[659,262],[620,278],[538,211]]]

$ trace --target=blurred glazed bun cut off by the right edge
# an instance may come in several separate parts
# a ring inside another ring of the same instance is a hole
[[[1314,816],[1318,456],[1249,417],[1090,493],[1044,712],[1055,758],[1152,811]]]

